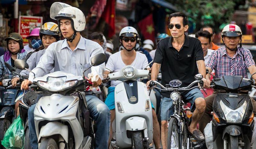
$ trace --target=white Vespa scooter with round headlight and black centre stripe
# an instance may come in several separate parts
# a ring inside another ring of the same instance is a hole
[[[153,140],[152,107],[145,83],[137,79],[148,76],[148,70],[125,66],[109,74],[109,80],[123,81],[115,88],[116,120],[113,122],[112,148],[146,149]]]

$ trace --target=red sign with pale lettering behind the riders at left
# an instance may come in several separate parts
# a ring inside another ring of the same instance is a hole
[[[36,27],[43,25],[43,17],[36,16],[20,16],[19,17],[19,33],[23,38],[23,45],[28,43],[26,37]]]

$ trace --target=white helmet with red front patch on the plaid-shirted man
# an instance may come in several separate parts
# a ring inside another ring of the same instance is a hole
[[[237,36],[242,36],[242,30],[238,25],[235,24],[228,24],[226,25],[222,32],[221,36],[228,36],[228,37],[237,37]]]

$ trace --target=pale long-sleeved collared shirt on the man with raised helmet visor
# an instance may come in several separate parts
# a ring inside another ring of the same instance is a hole
[[[66,39],[52,43],[40,58],[37,66],[32,70],[36,77],[48,74],[52,68],[54,71],[63,71],[75,76],[82,76],[83,71],[90,66],[91,58],[99,53],[104,53],[103,48],[96,42],[80,36],[76,49],[72,51]],[[101,78],[105,64],[93,66],[85,72],[85,76],[92,72],[99,74]],[[34,75],[29,73],[29,81],[33,82]]]

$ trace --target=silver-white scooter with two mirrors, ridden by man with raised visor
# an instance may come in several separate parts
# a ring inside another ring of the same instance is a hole
[[[98,66],[105,60],[104,53],[97,54],[92,58],[91,66]],[[28,70],[25,61],[17,59],[14,63],[16,67]],[[30,88],[51,94],[41,97],[34,111],[39,149],[94,148],[93,121],[87,106],[82,105],[86,104],[85,96],[83,92],[76,92],[82,99],[70,95],[74,91],[84,91],[87,85],[84,76],[61,71],[34,79]]]

